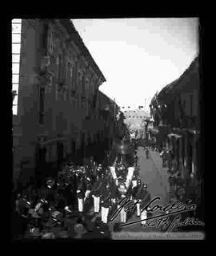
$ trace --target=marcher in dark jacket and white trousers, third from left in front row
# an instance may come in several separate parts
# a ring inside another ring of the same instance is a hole
[[[107,217],[109,213],[110,206],[112,204],[112,193],[110,191],[110,184],[106,182],[105,185],[102,186],[102,222],[107,223]]]

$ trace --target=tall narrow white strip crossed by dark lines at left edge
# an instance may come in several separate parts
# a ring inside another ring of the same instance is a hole
[[[21,51],[22,19],[12,20],[12,95],[13,95],[13,115],[18,113],[18,85],[19,67]]]

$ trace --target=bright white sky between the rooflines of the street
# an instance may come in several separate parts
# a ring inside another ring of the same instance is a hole
[[[147,106],[198,55],[198,18],[73,19],[119,106]]]

